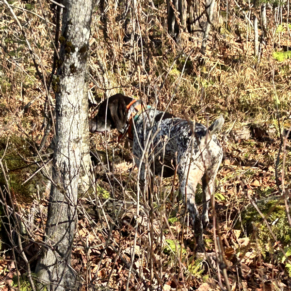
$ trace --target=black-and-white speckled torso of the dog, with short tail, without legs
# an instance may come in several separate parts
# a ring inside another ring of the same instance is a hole
[[[156,118],[156,117],[160,118]],[[136,133],[133,141],[133,154],[141,159],[142,152],[150,145],[147,156],[155,163],[155,174],[169,177],[174,174],[176,165],[185,157],[190,157],[194,163],[202,163],[206,169],[212,162],[221,160],[222,149],[214,135],[223,125],[223,117],[218,118],[207,129],[200,123],[195,123],[193,132],[192,121],[175,118],[154,109],[143,114],[135,124]],[[153,126],[152,126],[153,125]],[[212,158],[212,154],[214,155]],[[199,159],[199,156],[201,158]],[[203,160],[203,161],[202,161]],[[139,163],[139,161],[136,161]],[[162,173],[162,165],[164,165]]]

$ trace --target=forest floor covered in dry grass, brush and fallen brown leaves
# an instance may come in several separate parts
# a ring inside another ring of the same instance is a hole
[[[22,22],[28,18],[26,13],[41,14],[34,1],[25,4],[24,12],[18,2],[10,4]],[[4,15],[7,7],[0,6],[0,10]],[[158,100],[159,110],[169,104],[170,113],[205,125],[220,114],[226,119],[217,135],[224,157],[216,178],[215,211],[210,208],[210,227],[204,235],[207,253],[215,252],[215,219],[221,248],[218,261],[220,268],[226,267],[226,275],[217,272],[215,259],[195,256],[194,233],[177,179],[156,179],[153,201],[141,196],[137,203],[137,169],[130,150],[124,143],[116,143],[117,132],[113,131],[107,140],[91,135],[91,150],[99,161],[93,170],[96,182],[92,193],[80,194],[72,254],[80,290],[161,290],[161,286],[169,291],[221,290],[219,282],[226,284],[227,280],[231,290],[290,290],[291,145],[285,136],[291,126],[291,58],[269,45],[258,63],[250,40],[238,41],[231,29],[213,32],[202,56],[189,33],[181,34],[178,46],[157,17],[144,55],[136,50],[137,62],[128,57],[134,48],[131,50],[128,43],[117,45],[117,28],[110,25],[114,13],[108,12],[107,43],[100,37],[98,11],[93,17],[91,101],[97,104],[104,95],[124,93],[151,105]],[[144,24],[141,22],[142,29]],[[45,87],[15,19],[6,14],[0,18],[0,26],[0,159],[22,221],[22,246],[33,273],[50,186],[38,169],[51,162],[48,147],[53,132],[39,153]],[[49,22],[49,28],[53,32],[55,23]],[[53,50],[48,27],[33,15],[25,29],[41,61],[42,74],[49,77]],[[287,33],[286,29],[280,34],[282,46]],[[241,36],[245,37],[243,32]],[[100,69],[102,62],[105,73]],[[102,89],[105,84],[113,89]],[[53,111],[52,90],[50,98]],[[95,105],[90,108],[90,117],[96,113]],[[0,186],[5,188],[2,171]],[[198,185],[200,211],[201,194]],[[27,280],[28,264],[17,255],[17,243],[7,239],[6,226],[7,219],[2,217],[0,290],[15,290],[19,284],[22,291],[32,290]]]

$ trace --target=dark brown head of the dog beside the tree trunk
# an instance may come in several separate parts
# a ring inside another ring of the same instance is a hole
[[[122,94],[115,94],[99,107],[97,115],[89,122],[91,132],[105,132],[111,129],[121,130],[126,123],[127,108],[132,98]]]

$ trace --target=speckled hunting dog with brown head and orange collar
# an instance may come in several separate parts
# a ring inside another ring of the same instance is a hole
[[[107,110],[106,110],[107,108]],[[143,108],[140,100],[116,94],[101,103],[98,114],[90,121],[91,132],[117,129],[120,138],[128,133],[133,139],[132,151],[136,165],[141,165],[141,185],[146,185],[146,164],[150,171],[170,177],[177,170],[180,191],[187,197],[198,247],[204,249],[203,228],[208,225],[210,196],[222,160],[222,148],[214,135],[224,124],[220,116],[207,129],[200,123],[176,118],[174,115]],[[146,148],[146,150],[145,150]],[[144,152],[147,152],[145,155]],[[145,163],[145,158],[148,157]],[[148,162],[148,163],[147,163]],[[202,219],[195,204],[195,189],[202,179]]]

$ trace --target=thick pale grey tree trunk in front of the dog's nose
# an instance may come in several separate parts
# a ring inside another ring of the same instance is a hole
[[[78,180],[89,152],[86,121],[87,58],[92,0],[65,0],[61,64],[56,84],[56,148],[54,151],[48,219],[43,256],[36,273],[38,288],[76,289],[71,250],[77,222]]]

